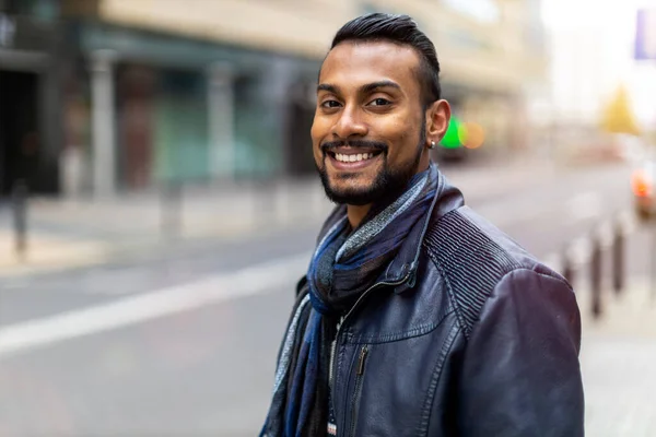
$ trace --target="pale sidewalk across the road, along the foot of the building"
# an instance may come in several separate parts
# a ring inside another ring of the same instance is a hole
[[[555,172],[537,156],[487,164],[443,165],[467,199],[495,196]],[[495,184],[491,188],[490,180]],[[187,186],[180,198],[161,191],[102,200],[31,199],[28,253],[13,251],[10,206],[0,204],[0,277],[108,262],[126,253],[171,249],[190,240],[238,240],[300,224],[318,227],[332,204],[318,178]]]

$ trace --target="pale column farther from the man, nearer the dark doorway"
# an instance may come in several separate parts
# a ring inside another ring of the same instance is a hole
[[[93,192],[96,197],[116,192],[115,59],[112,50],[97,50],[91,57]]]

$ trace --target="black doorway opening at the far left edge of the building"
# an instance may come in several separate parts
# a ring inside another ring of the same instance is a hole
[[[0,70],[0,196],[23,179],[36,190],[42,139],[38,74]]]

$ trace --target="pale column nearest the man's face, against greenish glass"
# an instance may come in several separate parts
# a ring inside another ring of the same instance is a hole
[[[229,66],[212,64],[208,69],[208,125],[210,170],[214,179],[234,177],[234,73]]]

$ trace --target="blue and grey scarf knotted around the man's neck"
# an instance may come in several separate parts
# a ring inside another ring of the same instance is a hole
[[[328,423],[330,342],[338,318],[372,286],[425,216],[437,168],[415,175],[393,202],[373,208],[351,232],[345,205],[326,221],[307,272],[309,293],[296,303],[280,350],[273,399],[260,436],[324,436]]]

